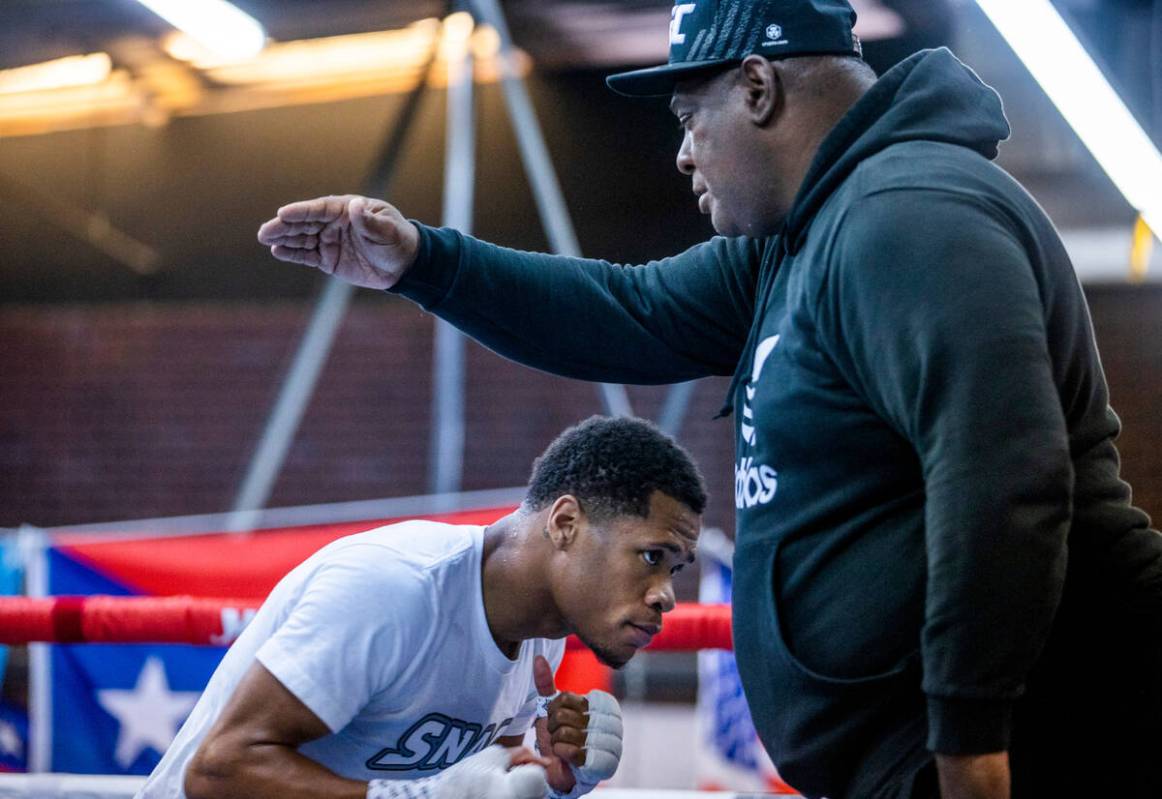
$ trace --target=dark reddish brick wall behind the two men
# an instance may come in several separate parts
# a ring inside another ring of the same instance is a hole
[[[1124,474],[1162,512],[1162,288],[1090,288]],[[0,526],[224,511],[310,312],[299,304],[0,309]],[[351,309],[272,505],[422,494],[431,317],[394,298]],[[466,489],[522,484],[568,424],[601,409],[589,383],[468,348]],[[732,526],[725,380],[697,384],[681,439]],[[665,388],[631,388],[655,417]]]

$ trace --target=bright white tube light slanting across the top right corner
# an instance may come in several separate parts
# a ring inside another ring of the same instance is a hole
[[[1162,235],[1162,154],[1049,0],[977,0],[1118,190]]]

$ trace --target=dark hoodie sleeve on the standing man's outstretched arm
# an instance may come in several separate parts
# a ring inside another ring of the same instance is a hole
[[[734,370],[762,242],[715,238],[643,266],[498,247],[419,225],[392,289],[495,352],[545,372],[674,383]]]

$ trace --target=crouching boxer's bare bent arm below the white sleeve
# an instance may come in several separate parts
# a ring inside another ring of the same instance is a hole
[[[299,754],[327,725],[261,663],[243,676],[185,775],[188,799],[365,799],[367,783]]]

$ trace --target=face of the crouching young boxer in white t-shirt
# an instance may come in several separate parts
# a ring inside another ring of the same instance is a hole
[[[568,550],[558,604],[607,665],[625,665],[674,609],[674,575],[694,561],[702,518],[655,491],[650,516],[587,523]]]

